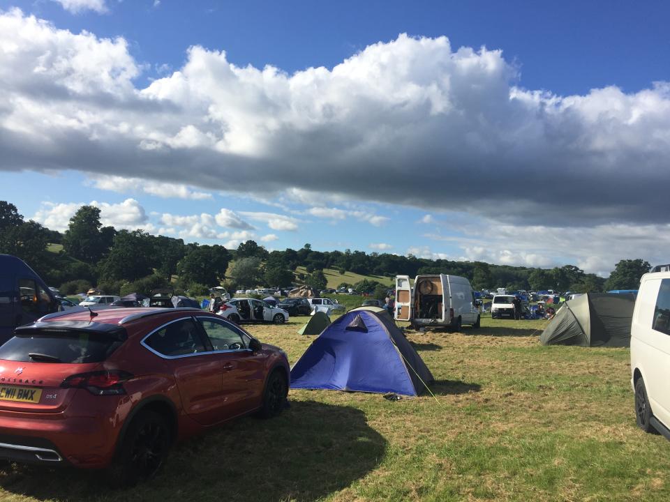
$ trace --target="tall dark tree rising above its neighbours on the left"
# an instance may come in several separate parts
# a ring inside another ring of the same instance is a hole
[[[63,248],[70,256],[95,263],[106,254],[114,229],[102,228],[100,222],[100,208],[96,206],[82,206],[70,218],[70,225],[63,238]]]

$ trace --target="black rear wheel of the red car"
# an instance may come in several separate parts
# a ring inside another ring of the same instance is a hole
[[[132,487],[156,476],[170,450],[170,426],[156,411],[140,411],[128,425],[110,469],[115,487]]]

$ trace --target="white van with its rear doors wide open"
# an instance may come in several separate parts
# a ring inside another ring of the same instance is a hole
[[[456,331],[463,324],[479,328],[479,310],[470,281],[459,275],[417,275],[414,288],[408,275],[396,276],[396,310],[398,321],[412,326],[442,326]]]

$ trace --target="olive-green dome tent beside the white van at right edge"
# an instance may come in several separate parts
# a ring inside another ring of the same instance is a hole
[[[551,319],[539,342],[542,345],[630,347],[632,295],[587,293],[569,300]]]

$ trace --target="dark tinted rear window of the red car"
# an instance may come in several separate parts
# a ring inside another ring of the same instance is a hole
[[[0,347],[0,359],[34,363],[101,363],[123,342],[106,333],[40,330],[21,333]]]

